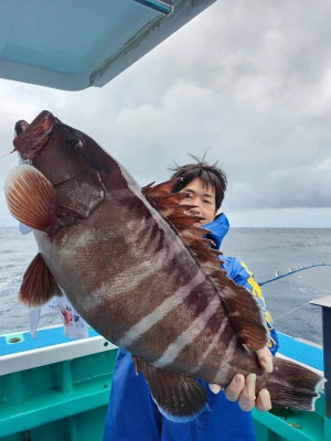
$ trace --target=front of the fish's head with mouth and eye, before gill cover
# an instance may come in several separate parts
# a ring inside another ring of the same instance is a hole
[[[78,175],[90,165],[88,157],[95,141],[47,110],[31,125],[18,121],[15,133],[13,144],[22,160],[35,166],[53,185]]]

